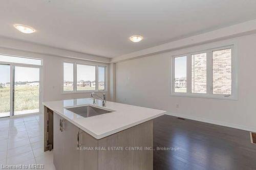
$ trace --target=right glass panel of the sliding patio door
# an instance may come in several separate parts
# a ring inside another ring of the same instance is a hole
[[[39,112],[39,68],[14,69],[14,115]]]

